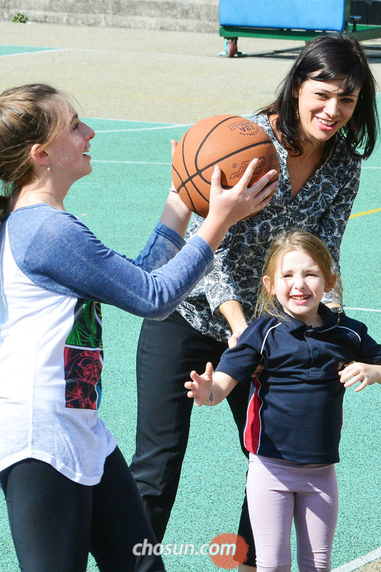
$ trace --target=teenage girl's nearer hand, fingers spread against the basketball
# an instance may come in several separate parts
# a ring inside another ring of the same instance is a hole
[[[223,218],[231,226],[238,220],[258,213],[270,203],[278,181],[269,182],[277,172],[272,169],[252,186],[248,186],[257,165],[258,159],[253,159],[240,181],[231,189],[222,189],[221,170],[217,165],[214,167],[208,217]]]

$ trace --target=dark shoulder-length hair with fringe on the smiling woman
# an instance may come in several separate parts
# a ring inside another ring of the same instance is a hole
[[[277,130],[287,150],[302,155],[301,135],[296,117],[294,93],[303,81],[341,80],[342,95],[360,90],[351,120],[325,145],[325,157],[344,140],[352,157],[367,159],[375,148],[379,129],[375,100],[376,83],[361,44],[356,38],[335,32],[316,37],[306,44],[294,66],[280,85],[277,100],[260,110],[277,114]],[[362,153],[356,149],[362,148]]]

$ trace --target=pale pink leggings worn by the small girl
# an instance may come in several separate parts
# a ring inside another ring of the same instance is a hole
[[[299,572],[329,572],[337,523],[334,465],[303,465],[250,453],[248,508],[258,572],[290,572],[294,518]]]

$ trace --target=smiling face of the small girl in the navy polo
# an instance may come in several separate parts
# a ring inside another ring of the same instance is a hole
[[[274,280],[263,277],[267,292],[277,297],[286,314],[309,326],[320,325],[317,308],[335,281],[332,275],[332,282],[327,284],[315,260],[302,250],[291,250],[279,257]]]

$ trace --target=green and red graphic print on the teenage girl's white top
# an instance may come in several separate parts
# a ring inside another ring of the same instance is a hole
[[[103,364],[102,313],[99,302],[78,300],[65,345],[66,407],[98,409]]]

